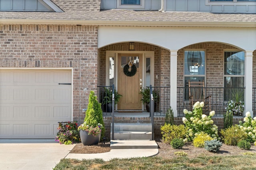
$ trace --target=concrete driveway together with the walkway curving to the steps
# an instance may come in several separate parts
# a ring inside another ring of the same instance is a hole
[[[108,161],[158,154],[158,149],[111,149],[100,154],[70,154],[74,146],[60,145],[54,139],[0,139],[0,170],[51,170],[62,158]]]

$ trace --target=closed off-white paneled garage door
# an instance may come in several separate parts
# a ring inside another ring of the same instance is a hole
[[[0,138],[54,138],[71,121],[71,81],[71,70],[0,69]]]

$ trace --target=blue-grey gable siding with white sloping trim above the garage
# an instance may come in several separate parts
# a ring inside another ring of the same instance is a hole
[[[63,12],[51,0],[0,0],[0,11]]]

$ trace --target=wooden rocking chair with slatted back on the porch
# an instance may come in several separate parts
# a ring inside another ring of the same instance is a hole
[[[204,81],[193,82],[188,80],[189,89],[189,103],[190,110],[193,109],[193,105],[196,102],[204,102],[204,107],[202,108],[204,114],[211,111],[211,96],[206,97],[206,88],[204,88]]]

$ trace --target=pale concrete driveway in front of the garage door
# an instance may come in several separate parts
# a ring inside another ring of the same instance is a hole
[[[0,170],[52,170],[74,146],[54,139],[0,139]]]

